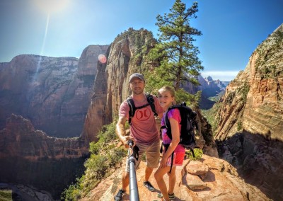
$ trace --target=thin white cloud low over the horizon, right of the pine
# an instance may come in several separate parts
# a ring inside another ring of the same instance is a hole
[[[212,79],[220,81],[232,81],[235,79],[239,71],[202,71],[201,74],[205,78],[211,76]]]

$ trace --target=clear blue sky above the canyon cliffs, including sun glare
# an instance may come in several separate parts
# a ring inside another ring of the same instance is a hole
[[[109,45],[128,28],[151,30],[173,0],[1,0],[0,62],[19,54],[77,57],[88,45]],[[185,1],[187,8],[193,1]],[[282,0],[200,0],[195,45],[202,76],[231,81],[253,50],[283,23]]]

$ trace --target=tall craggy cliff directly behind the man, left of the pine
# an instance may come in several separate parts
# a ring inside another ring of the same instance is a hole
[[[148,30],[133,30],[118,35],[107,53],[106,64],[99,64],[96,85],[88,108],[83,137],[96,141],[98,130],[117,118],[119,106],[129,96],[129,76],[149,69],[144,57],[154,45]]]

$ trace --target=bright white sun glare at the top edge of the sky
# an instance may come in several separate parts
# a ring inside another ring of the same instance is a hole
[[[46,13],[57,13],[66,8],[69,0],[33,0],[34,4]]]

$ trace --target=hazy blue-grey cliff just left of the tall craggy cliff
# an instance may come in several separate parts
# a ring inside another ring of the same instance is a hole
[[[69,84],[68,92],[71,94],[68,100],[64,101],[62,110],[64,111],[64,131],[76,130],[76,137],[82,133],[86,120],[86,113],[93,96],[93,87],[96,86],[96,79],[100,62],[100,54],[106,54],[109,45],[90,45],[86,47],[79,59],[79,68],[74,79]],[[100,83],[97,84],[100,86]],[[70,118],[75,116],[76,118]],[[98,120],[98,117],[97,117]],[[63,120],[62,120],[63,121]]]

